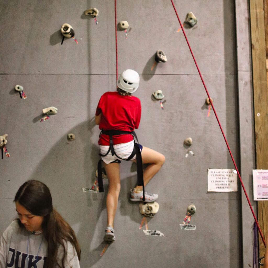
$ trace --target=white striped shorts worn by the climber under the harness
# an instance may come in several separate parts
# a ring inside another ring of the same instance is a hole
[[[139,144],[139,147],[140,147],[140,151],[142,151],[142,146],[140,144]],[[124,160],[128,159],[129,156],[132,154],[133,148],[134,148],[134,140],[132,140],[131,142],[119,143],[119,144],[114,145],[115,153],[121,159],[124,159]],[[100,145],[100,149],[101,149],[101,154],[107,154],[109,150],[109,145]],[[110,164],[112,162],[121,163],[120,158],[118,158],[116,155],[112,155],[111,151],[106,156],[101,157],[102,161],[106,164]],[[135,159],[136,159],[136,154],[130,160],[135,160]]]

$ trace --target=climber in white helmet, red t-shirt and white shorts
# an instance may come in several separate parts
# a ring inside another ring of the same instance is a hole
[[[125,70],[117,81],[118,89],[115,92],[106,92],[101,96],[96,109],[96,124],[102,130],[99,138],[101,158],[109,180],[107,193],[107,228],[104,240],[115,241],[114,217],[116,214],[118,196],[120,193],[120,162],[121,160],[136,162],[134,139],[131,134],[139,127],[141,118],[140,100],[131,94],[139,87],[140,77],[134,70]],[[150,164],[144,170],[144,186],[159,171],[165,162],[164,155],[147,147],[141,146],[142,162]],[[130,200],[137,202],[154,202],[157,194],[145,192],[142,186],[130,189]]]

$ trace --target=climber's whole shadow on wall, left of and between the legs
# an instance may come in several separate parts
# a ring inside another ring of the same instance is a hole
[[[53,120],[49,119],[49,120]],[[49,124],[49,120],[42,124]],[[40,123],[41,124],[41,123]],[[74,133],[74,141],[67,140],[66,132],[42,159],[31,178],[45,183],[51,191],[53,203],[59,213],[74,228],[82,249],[81,265],[94,265],[101,258],[104,243],[102,241],[106,227],[106,194],[108,181],[104,180],[105,193],[83,193],[83,187],[91,187],[96,180],[95,172],[99,157],[98,136],[92,129],[97,127],[94,118],[73,127],[68,133]],[[124,169],[136,172],[134,163],[122,163]],[[128,165],[126,167],[126,165]],[[121,193],[117,217],[129,215],[131,221],[140,224],[139,202],[131,203],[129,189],[137,181],[136,173],[121,180]],[[132,212],[129,211],[131,204]],[[99,232],[101,230],[101,232]],[[101,243],[99,244],[99,242]],[[90,258],[88,257],[90,256]],[[81,266],[83,267],[83,266]]]

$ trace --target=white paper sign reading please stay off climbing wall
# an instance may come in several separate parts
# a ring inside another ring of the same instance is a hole
[[[235,169],[208,169],[208,192],[237,192],[237,173]]]

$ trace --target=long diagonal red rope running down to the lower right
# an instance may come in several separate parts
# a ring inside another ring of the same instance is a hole
[[[189,49],[190,49],[190,51],[191,51],[191,54],[192,54],[193,60],[194,60],[194,62],[195,62],[196,68],[197,68],[197,70],[198,70],[198,73],[199,73],[200,78],[201,78],[201,80],[202,80],[202,83],[203,83],[203,85],[204,85],[204,88],[205,88],[205,90],[206,90],[206,92],[207,92],[207,96],[209,97],[209,101],[210,101],[210,103],[211,103],[211,107],[212,107],[212,109],[213,109],[213,111],[214,111],[214,114],[215,114],[216,119],[217,119],[217,121],[218,121],[219,127],[220,127],[220,129],[221,129],[222,135],[223,135],[223,137],[224,137],[225,143],[226,143],[227,148],[228,148],[228,150],[229,150],[230,156],[231,156],[232,161],[233,161],[233,163],[234,163],[234,165],[235,165],[235,169],[236,169],[236,171],[237,171],[237,175],[238,175],[238,177],[239,177],[241,186],[242,186],[242,188],[243,188],[243,190],[244,190],[245,196],[246,196],[246,198],[247,198],[247,200],[248,200],[248,204],[249,204],[249,206],[250,206],[252,215],[253,215],[253,217],[254,217],[254,219],[255,219],[256,225],[257,225],[257,227],[258,227],[258,229],[259,229],[259,233],[260,233],[260,236],[262,237],[263,244],[264,244],[264,246],[266,247],[266,243],[265,243],[265,240],[264,240],[262,231],[260,230],[260,226],[259,226],[258,220],[257,220],[257,218],[256,218],[256,215],[255,215],[254,211],[253,211],[253,208],[252,208],[252,205],[251,205],[251,203],[250,203],[250,199],[248,198],[248,194],[247,194],[247,191],[246,191],[246,189],[245,189],[244,183],[243,183],[243,181],[242,181],[242,178],[241,178],[240,173],[239,173],[239,171],[238,171],[238,168],[237,168],[237,166],[236,166],[235,159],[233,158],[233,154],[232,154],[232,152],[231,152],[231,149],[230,149],[229,144],[228,144],[228,142],[227,142],[227,139],[226,139],[226,137],[225,137],[224,131],[223,131],[222,127],[221,127],[221,123],[220,123],[220,121],[219,121],[218,115],[217,115],[216,110],[215,110],[215,108],[214,108],[213,102],[212,102],[212,100],[211,100],[211,98],[210,98],[210,95],[209,95],[209,92],[208,92],[208,90],[207,90],[206,84],[205,84],[205,82],[204,82],[204,80],[203,80],[203,77],[202,77],[201,72],[200,72],[200,70],[199,70],[198,64],[197,64],[197,62],[196,62],[196,60],[195,60],[195,56],[193,55],[193,51],[192,51],[192,49],[191,49],[191,46],[190,46],[189,41],[188,41],[188,39],[187,39],[187,36],[186,36],[186,34],[185,34],[183,25],[181,24],[181,20],[180,20],[180,18],[179,18],[179,16],[178,16],[178,13],[177,13],[177,10],[176,10],[176,8],[175,8],[175,5],[174,5],[173,0],[170,0],[170,1],[171,1],[172,5],[173,5],[173,8],[174,8],[175,13],[176,13],[176,15],[177,15],[177,18],[178,18],[178,21],[179,21],[179,23],[180,23],[181,29],[182,29],[182,31],[183,31],[184,37],[185,37],[186,42],[187,42],[187,44],[188,44],[188,47],[189,47]]]

